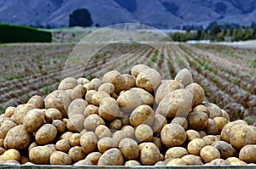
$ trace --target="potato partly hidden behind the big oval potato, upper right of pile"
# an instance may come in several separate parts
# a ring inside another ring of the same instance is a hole
[[[160,87],[157,88],[155,93],[154,101],[156,104],[159,104],[160,101],[170,92],[183,88],[183,84],[177,82],[176,80],[168,80],[166,82],[162,82]]]

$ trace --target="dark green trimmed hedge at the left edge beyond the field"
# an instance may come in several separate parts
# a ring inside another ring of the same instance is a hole
[[[0,42],[51,42],[51,33],[23,25],[0,24]]]

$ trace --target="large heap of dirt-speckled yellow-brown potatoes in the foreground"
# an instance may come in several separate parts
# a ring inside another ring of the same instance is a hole
[[[187,69],[174,80],[147,65],[67,77],[0,116],[0,164],[254,165],[256,127],[204,98]]]

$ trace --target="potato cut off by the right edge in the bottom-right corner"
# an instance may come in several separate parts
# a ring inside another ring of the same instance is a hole
[[[247,144],[241,148],[239,159],[247,163],[256,163],[256,144]]]

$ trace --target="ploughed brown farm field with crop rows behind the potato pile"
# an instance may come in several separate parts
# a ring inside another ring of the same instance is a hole
[[[32,95],[47,95],[64,76],[91,79],[108,70],[125,73],[132,65],[145,64],[160,70],[166,79],[188,68],[194,81],[204,87],[205,101],[218,104],[232,120],[256,124],[255,49],[172,42],[154,46],[113,43],[97,51],[86,65],[83,59],[74,59],[65,66],[73,43],[1,44],[0,113],[26,103]]]

